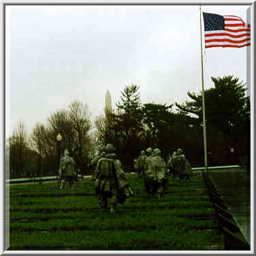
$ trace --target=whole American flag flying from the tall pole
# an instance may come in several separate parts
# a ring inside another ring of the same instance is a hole
[[[205,48],[251,46],[251,26],[234,15],[203,12]]]

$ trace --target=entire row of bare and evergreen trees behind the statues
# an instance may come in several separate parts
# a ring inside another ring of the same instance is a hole
[[[246,164],[250,161],[250,98],[243,82],[233,76],[212,78],[206,89],[208,165]],[[57,174],[59,154],[65,148],[82,174],[91,174],[90,161],[103,145],[114,144],[126,172],[133,159],[148,147],[160,148],[162,156],[182,148],[193,167],[204,166],[202,92],[188,92],[185,103],[142,103],[140,87],[125,86],[116,110],[105,109],[95,120],[88,106],[74,101],[57,110],[47,123],[37,123],[31,135],[19,123],[8,139],[11,176]],[[63,140],[57,141],[57,135]],[[232,153],[231,148],[234,148]]]

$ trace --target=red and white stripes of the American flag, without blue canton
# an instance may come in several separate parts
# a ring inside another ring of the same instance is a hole
[[[224,30],[205,31],[205,48],[251,46],[251,26],[242,18],[225,15]]]

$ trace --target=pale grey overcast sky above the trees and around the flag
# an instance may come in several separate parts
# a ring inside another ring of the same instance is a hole
[[[202,6],[246,21],[249,6]],[[78,99],[92,121],[112,107],[125,85],[138,84],[142,103],[182,103],[202,89],[199,6],[6,6],[6,135],[24,121],[31,133]],[[246,82],[246,47],[204,52],[211,76]],[[207,103],[206,103],[207,108]]]

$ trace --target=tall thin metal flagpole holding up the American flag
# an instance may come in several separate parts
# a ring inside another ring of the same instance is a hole
[[[202,108],[203,108],[203,125],[204,125],[204,167],[205,172],[208,172],[207,166],[207,146],[206,146],[206,108],[204,101],[204,63],[203,63],[203,43],[202,43],[202,11],[200,7],[200,33],[201,33],[201,67],[202,67]]]

